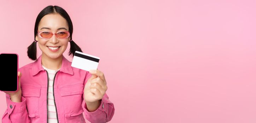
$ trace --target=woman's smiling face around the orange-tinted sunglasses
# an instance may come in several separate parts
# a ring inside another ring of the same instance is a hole
[[[39,22],[38,32],[40,31],[50,31],[52,33],[59,31],[69,31],[68,22],[60,14],[47,14]],[[49,39],[43,39],[40,38],[37,34],[36,40],[38,41],[38,45],[42,51],[42,54],[45,54],[49,58],[55,59],[62,56],[68,46],[70,37],[66,39],[59,39],[56,37],[56,35],[52,35],[52,37]],[[52,47],[59,48],[56,49]]]

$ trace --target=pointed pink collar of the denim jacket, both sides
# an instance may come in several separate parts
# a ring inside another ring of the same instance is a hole
[[[36,61],[33,63],[33,68],[32,68],[32,75],[33,76],[35,76],[40,71],[45,70],[42,67],[41,59],[42,59],[42,55],[40,57],[38,57],[36,59]],[[62,55],[62,66],[60,67],[59,71],[64,72],[64,73],[68,73],[70,75],[74,74],[73,70],[72,70],[72,67],[71,67],[71,62],[69,62],[69,60],[66,59],[63,55]]]

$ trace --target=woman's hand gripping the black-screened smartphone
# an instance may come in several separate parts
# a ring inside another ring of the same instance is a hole
[[[18,90],[16,92],[3,91],[5,93],[7,93],[8,95],[10,95],[12,102],[21,102],[21,76],[22,76],[21,72],[18,72],[19,86],[18,86]]]

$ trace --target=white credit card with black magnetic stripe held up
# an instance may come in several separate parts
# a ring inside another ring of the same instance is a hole
[[[99,57],[76,51],[71,66],[86,71],[97,70],[99,60]]]

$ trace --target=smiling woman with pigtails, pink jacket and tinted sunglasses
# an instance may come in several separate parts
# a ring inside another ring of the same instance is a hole
[[[35,40],[28,57],[36,60],[19,69],[19,88],[5,92],[7,109],[3,123],[105,123],[114,115],[114,104],[106,95],[103,72],[71,67],[63,56],[81,51],[72,40],[73,26],[66,11],[47,6],[36,18]],[[36,43],[42,54],[36,57]],[[36,59],[37,58],[37,59]],[[22,77],[21,77],[22,76]]]

